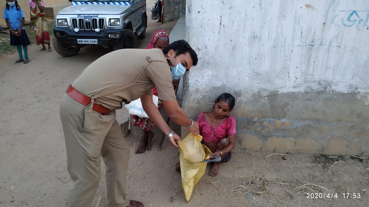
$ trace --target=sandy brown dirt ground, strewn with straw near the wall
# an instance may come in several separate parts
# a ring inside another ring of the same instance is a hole
[[[147,1],[148,8],[153,2]],[[174,25],[149,21],[139,47],[146,47],[155,31],[170,32]],[[29,64],[13,64],[18,59],[16,53],[0,56],[0,207],[65,206],[69,176],[59,102],[80,71],[111,51],[85,48],[67,58],[39,49],[29,47]],[[122,109],[120,116],[124,114]],[[127,137],[131,146],[128,173],[138,167],[128,179],[130,199],[142,201],[146,207],[187,206],[180,174],[174,170],[179,160],[177,150],[165,141],[157,151],[161,134],[156,134],[152,150],[137,155],[134,150],[139,138]],[[218,177],[208,175],[208,166],[188,206],[368,206],[368,159],[335,157],[276,155],[245,151],[237,145]],[[106,206],[102,166],[93,207],[99,200],[98,206]],[[349,193],[348,198],[344,193]]]

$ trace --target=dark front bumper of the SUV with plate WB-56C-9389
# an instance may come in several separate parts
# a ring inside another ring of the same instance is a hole
[[[109,34],[118,34],[116,37],[109,37]],[[54,28],[54,36],[58,42],[68,45],[120,45],[123,42],[124,29],[106,28],[100,32],[95,31],[72,31],[70,28]],[[80,44],[77,39],[97,39],[97,44]]]

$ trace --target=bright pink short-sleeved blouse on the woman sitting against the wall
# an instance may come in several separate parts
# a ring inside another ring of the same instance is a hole
[[[199,123],[200,134],[203,136],[203,141],[210,143],[220,142],[221,138],[236,134],[236,120],[233,116],[228,116],[223,123],[215,129],[207,122],[204,112],[201,112],[197,118]]]

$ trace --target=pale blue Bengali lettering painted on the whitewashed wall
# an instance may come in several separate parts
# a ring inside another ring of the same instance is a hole
[[[369,10],[339,10],[332,24],[338,27],[355,27],[357,31],[369,29]]]

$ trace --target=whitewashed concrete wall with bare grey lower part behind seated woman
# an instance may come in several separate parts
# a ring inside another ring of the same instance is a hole
[[[186,39],[199,55],[184,83],[190,116],[230,92],[245,148],[369,155],[368,1],[187,0],[186,6]]]

